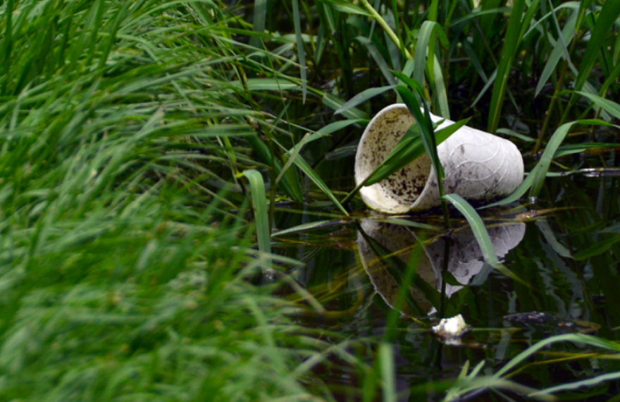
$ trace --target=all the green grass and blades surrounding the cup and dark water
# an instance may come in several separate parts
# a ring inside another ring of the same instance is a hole
[[[566,147],[612,148],[570,130],[620,114],[617,2],[503,3],[0,4],[0,401],[331,400],[309,369],[346,352],[298,327],[272,284],[299,265],[271,255],[272,232],[319,223],[277,228],[276,203],[351,219],[361,129],[417,104],[398,83],[492,131],[543,121],[514,137],[545,152],[504,203],[540,196]],[[421,129],[384,174],[433,153]],[[397,398],[384,341],[374,367],[347,357],[374,376],[368,400]]]

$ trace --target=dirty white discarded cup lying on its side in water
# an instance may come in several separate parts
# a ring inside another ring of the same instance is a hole
[[[433,123],[443,120],[430,115]],[[364,130],[355,156],[355,182],[364,181],[385,160],[415,122],[405,104],[380,111]],[[445,120],[440,130],[453,124]],[[459,128],[437,147],[445,172],[446,194],[466,200],[492,200],[509,195],[523,181],[523,157],[509,140],[468,126]],[[440,193],[430,158],[424,154],[385,180],[363,187],[361,199],[368,207],[387,214],[404,214],[437,207]]]

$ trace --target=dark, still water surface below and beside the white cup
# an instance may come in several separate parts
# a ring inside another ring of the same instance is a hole
[[[492,374],[552,335],[585,333],[615,340],[620,333],[620,178],[614,169],[588,170],[618,166],[614,158],[609,151],[558,159],[562,166],[571,166],[566,169],[569,174],[548,177],[535,204],[478,211],[509,272],[483,263],[471,230],[456,211],[452,212],[456,229],[446,236],[442,229],[423,226],[441,227],[440,214],[394,221],[356,204],[352,218],[344,219],[321,200],[303,210],[280,207],[278,228],[309,225],[274,237],[276,253],[305,264],[290,269],[294,284],[283,297],[307,307],[299,322],[321,329],[322,341],[331,345],[347,341],[343,350],[372,365],[377,355],[372,341],[385,335],[407,264],[423,242],[423,252],[411,260],[416,276],[399,309],[393,338],[402,401],[440,401],[445,394],[426,389],[430,382],[455,379],[467,361],[471,367],[484,361],[481,374]],[[552,170],[562,171],[562,166]],[[343,188],[350,184],[347,180],[343,179]],[[431,334],[441,312],[445,317],[460,313],[471,326],[460,344],[445,344]],[[600,353],[604,352],[558,343],[521,363],[509,379],[545,389],[620,370],[615,356]],[[334,353],[315,372],[339,400],[356,401],[372,374],[354,367]],[[558,396],[608,401],[618,400],[618,394],[619,383],[610,381]],[[504,395],[486,391],[469,395],[469,400],[525,398],[511,391]]]

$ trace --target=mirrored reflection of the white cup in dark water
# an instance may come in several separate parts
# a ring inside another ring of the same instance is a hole
[[[523,240],[526,225],[520,222],[495,222],[488,224],[487,231],[495,253],[501,259]],[[390,307],[394,306],[399,290],[399,275],[395,270],[402,271],[407,266],[411,250],[420,243],[420,237],[423,236],[419,236],[411,228],[398,224],[365,219],[360,225],[357,244],[361,262],[374,288]],[[447,242],[450,242],[450,247],[445,265]],[[417,264],[416,277],[441,291],[442,270],[447,267],[447,271],[456,279],[456,282],[445,285],[445,296],[448,298],[470,282],[482,284],[490,272],[469,226],[455,230],[450,237],[435,236],[430,243],[425,243]],[[405,315],[432,314],[439,308],[433,296],[423,290],[424,286],[416,286],[419,284],[420,282],[416,284],[414,281],[414,286],[411,286],[411,296],[419,308],[404,305],[401,311]]]

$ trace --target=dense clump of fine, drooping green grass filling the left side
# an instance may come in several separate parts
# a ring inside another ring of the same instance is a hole
[[[250,281],[264,259],[228,137],[261,116],[225,18],[0,6],[0,401],[306,398],[291,369],[312,348],[278,346],[290,304]]]

